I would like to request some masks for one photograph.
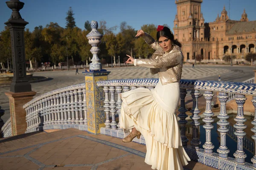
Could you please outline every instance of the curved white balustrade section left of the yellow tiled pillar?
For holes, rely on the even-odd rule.
[[[85,83],[38,96],[23,108],[26,110],[26,133],[70,127],[87,130]]]

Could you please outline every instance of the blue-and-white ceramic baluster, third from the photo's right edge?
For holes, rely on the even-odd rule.
[[[229,95],[224,92],[219,92],[218,93],[218,99],[220,101],[221,107],[220,107],[220,113],[217,116],[218,119],[220,119],[217,124],[220,126],[218,128],[218,131],[220,132],[221,136],[221,145],[217,149],[217,152],[219,153],[219,157],[221,158],[227,158],[228,153],[230,153],[230,150],[227,148],[226,144],[226,139],[227,139],[227,132],[229,131],[229,122],[227,119],[229,116],[227,115],[227,110],[226,110],[226,103],[229,98]],[[233,129],[230,129],[231,136],[233,134]]]

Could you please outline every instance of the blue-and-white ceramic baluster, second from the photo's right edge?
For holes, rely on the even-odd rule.
[[[247,155],[244,153],[243,150],[243,138],[246,135],[244,132],[244,129],[247,127],[247,125],[244,125],[244,122],[246,119],[244,118],[244,103],[245,103],[246,97],[243,94],[236,94],[236,104],[237,104],[237,114],[236,118],[234,119],[236,121],[236,124],[234,127],[236,128],[236,132],[234,133],[237,137],[237,150],[233,154],[236,158],[236,162],[243,164],[244,159],[247,157]]]

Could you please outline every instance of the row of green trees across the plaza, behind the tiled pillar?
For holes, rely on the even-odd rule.
[[[90,22],[84,23],[84,30],[76,27],[73,11],[67,12],[67,26],[62,28],[58,23],[49,23],[45,27],[37,26],[31,32],[24,31],[25,55],[27,61],[37,66],[40,62],[66,62],[67,57],[75,64],[86,62],[93,55],[90,52],[92,46],[88,43],[86,35],[91,31]],[[145,43],[143,38],[136,38],[137,30],[134,30],[126,22],[120,24],[119,33],[114,33],[117,26],[109,28],[105,21],[99,22],[98,31],[103,34],[102,43],[99,45],[99,58],[107,63],[111,62],[111,56],[120,56],[120,62],[124,62],[126,54],[138,58],[148,58],[154,50]],[[141,27],[156,40],[157,26],[147,24]],[[0,62],[7,62],[11,58],[10,31],[6,27],[0,32]],[[70,63],[69,63],[70,64]],[[79,63],[81,64],[81,63]],[[39,65],[38,65],[39,66]]]

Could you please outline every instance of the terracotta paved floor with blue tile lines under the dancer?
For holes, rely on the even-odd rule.
[[[77,129],[0,139],[1,170],[151,170],[145,145]],[[189,161],[184,170],[214,170]]]

